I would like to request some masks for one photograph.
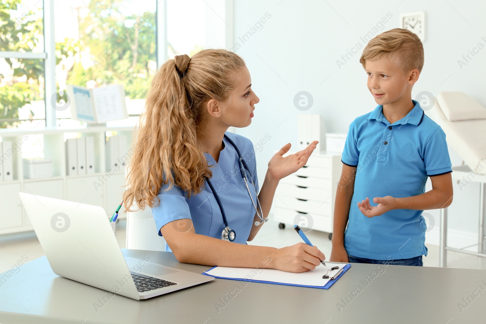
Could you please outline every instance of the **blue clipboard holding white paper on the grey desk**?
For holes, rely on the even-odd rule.
[[[336,265],[342,265],[342,263],[336,264]],[[203,272],[202,274],[207,275],[207,276],[210,276],[210,277],[214,277],[214,278],[219,278],[219,279],[229,279],[229,280],[238,280],[238,281],[246,281],[246,282],[260,282],[260,283],[265,283],[265,284],[275,284],[275,285],[285,285],[285,286],[297,286],[297,287],[307,287],[307,288],[329,289],[339,278],[341,278],[341,276],[344,273],[346,273],[346,271],[350,267],[351,267],[351,265],[348,263],[348,264],[344,265],[342,268],[336,269],[336,272],[339,272],[341,269],[343,271],[334,280],[322,279],[322,272],[321,273],[317,273],[316,272],[315,275],[318,276],[319,278],[321,278],[319,280],[322,280],[323,282],[325,282],[325,284],[323,286],[315,286],[315,285],[306,285],[306,284],[298,284],[298,283],[295,283],[295,278],[297,278],[297,275],[300,274],[300,273],[286,273],[284,271],[275,270],[275,269],[263,269],[263,268],[260,268],[262,271],[270,270],[271,273],[278,272],[278,273],[284,273],[283,275],[287,274],[288,277],[294,277],[293,278],[294,280],[287,280],[287,282],[279,282],[279,281],[271,281],[271,280],[260,280],[260,279],[258,279],[258,273],[255,276],[251,276],[250,275],[251,278],[247,278],[247,277],[244,277],[244,276],[242,277],[241,273],[245,273],[245,272],[251,273],[251,271],[255,271],[255,269],[251,269],[251,268],[212,267],[211,269]],[[213,274],[211,274],[211,270],[214,270],[216,268],[221,268],[223,270],[228,270],[227,271],[228,273],[232,272],[232,270],[234,269],[233,272],[235,274],[237,274],[237,275],[234,276],[234,277],[231,277],[231,276],[221,276],[221,275],[217,275],[217,274],[215,275],[214,272],[213,272]],[[313,272],[314,272],[314,270],[311,270],[309,272],[306,272],[306,275],[309,276]],[[266,276],[272,276],[271,273],[269,275],[266,275]],[[262,277],[262,276],[260,276],[260,277]],[[290,281],[294,281],[294,282],[290,282]],[[315,280],[315,281],[317,281],[317,280]]]

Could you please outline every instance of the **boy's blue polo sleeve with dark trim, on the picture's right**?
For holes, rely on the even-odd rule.
[[[424,165],[429,177],[452,172],[446,134],[440,126],[434,130],[427,144],[425,144]]]

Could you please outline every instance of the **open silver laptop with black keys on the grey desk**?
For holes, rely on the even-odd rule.
[[[52,271],[136,300],[213,280],[143,259],[124,257],[103,207],[19,193]]]

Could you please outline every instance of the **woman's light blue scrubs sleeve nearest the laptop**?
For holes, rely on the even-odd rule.
[[[185,218],[191,219],[191,211],[182,189],[174,185],[169,190],[164,191],[168,187],[169,184],[162,184],[157,195],[160,203],[152,208],[158,236],[162,236],[160,228],[165,224]]]

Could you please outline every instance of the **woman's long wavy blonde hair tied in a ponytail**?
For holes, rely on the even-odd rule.
[[[212,176],[198,142],[205,103],[229,100],[243,67],[243,59],[226,50],[177,55],[160,67],[132,144],[125,211],[133,211],[134,204],[158,205],[162,183],[169,183],[167,190],[179,186],[188,198],[201,192],[204,176]]]

